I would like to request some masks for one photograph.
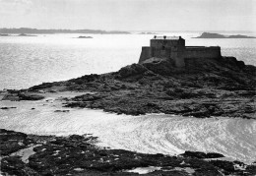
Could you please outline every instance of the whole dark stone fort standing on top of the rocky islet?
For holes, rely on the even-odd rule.
[[[220,46],[185,46],[181,36],[154,36],[150,46],[143,46],[139,64],[151,58],[169,59],[176,67],[184,67],[185,59],[220,58]]]

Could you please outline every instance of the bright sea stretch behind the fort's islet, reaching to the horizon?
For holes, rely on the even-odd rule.
[[[256,65],[256,39],[196,39],[191,37],[200,33],[164,34],[181,35],[186,45],[220,45],[224,56]],[[141,47],[149,45],[153,37],[95,34],[93,39],[75,38],[79,35],[0,36],[0,89],[30,88],[43,82],[117,71],[137,63]]]

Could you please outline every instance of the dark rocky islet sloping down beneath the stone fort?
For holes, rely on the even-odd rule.
[[[255,66],[234,57],[185,62],[185,68],[176,68],[166,60],[133,64],[118,72],[44,83],[18,90],[16,95],[8,93],[17,100],[36,100],[43,98],[41,92],[92,91],[93,94],[66,98],[64,105],[128,115],[164,113],[256,119]]]

